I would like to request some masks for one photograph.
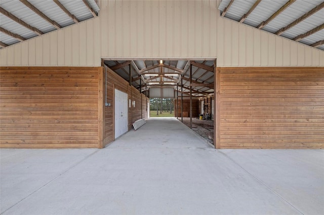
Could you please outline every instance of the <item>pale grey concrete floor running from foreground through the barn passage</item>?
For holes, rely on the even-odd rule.
[[[324,214],[323,150],[215,150],[175,118],[105,149],[1,149],[2,214]]]

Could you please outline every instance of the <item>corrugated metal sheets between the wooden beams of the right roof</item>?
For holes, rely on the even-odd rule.
[[[223,12],[228,6],[231,0],[223,0],[218,9]],[[234,0],[232,5],[227,10],[225,17],[239,21],[239,19],[246,14],[250,8],[254,5],[256,0]],[[262,0],[260,4],[252,11],[252,13],[243,22],[247,25],[257,27],[260,23],[267,20],[272,14],[277,12],[287,1],[284,0]],[[275,33],[277,30],[289,25],[305,13],[311,11],[316,6],[322,4],[323,0],[296,0],[288,8],[277,15],[267,25],[263,27],[263,30]],[[324,22],[324,8],[317,11],[315,14],[309,16],[305,20],[299,22],[292,28],[286,30],[281,36],[293,39],[298,35],[304,34],[317,26],[322,25]],[[319,30],[307,37],[302,38],[299,42],[312,45],[315,42],[324,40],[324,30]],[[324,45],[317,47],[324,50]]]

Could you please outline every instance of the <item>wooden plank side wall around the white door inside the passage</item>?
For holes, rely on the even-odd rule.
[[[106,67],[105,67],[106,68]],[[105,69],[104,69],[105,70]],[[128,130],[132,129],[132,123],[140,118],[147,118],[145,101],[148,102],[148,98],[144,94],[140,94],[134,86],[130,86],[129,82],[123,77],[120,77],[117,73],[110,68],[106,68],[107,71],[107,102],[111,106],[104,108],[104,141],[103,146],[114,141],[114,89],[122,91],[128,94],[128,99],[131,99],[132,105],[128,110]],[[105,71],[104,71],[105,72]],[[105,78],[105,75],[104,75]],[[105,87],[105,86],[104,86]],[[142,99],[141,99],[142,98]],[[133,101],[135,101],[135,107],[133,107]],[[105,103],[105,101],[103,101]],[[142,104],[142,105],[141,105]]]

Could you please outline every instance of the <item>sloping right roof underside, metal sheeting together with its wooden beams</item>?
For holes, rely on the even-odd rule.
[[[324,0],[222,0],[221,16],[324,50]]]

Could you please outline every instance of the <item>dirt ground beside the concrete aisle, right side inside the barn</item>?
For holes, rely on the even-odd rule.
[[[181,117],[178,118],[181,121]],[[184,117],[183,123],[190,127],[190,118]],[[214,145],[214,121],[192,119],[192,130]]]

